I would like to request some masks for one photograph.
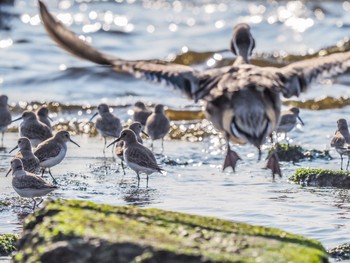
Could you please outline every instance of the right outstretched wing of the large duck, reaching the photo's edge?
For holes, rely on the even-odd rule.
[[[344,73],[350,67],[350,51],[312,58],[289,64],[278,72],[284,83],[284,97],[299,96],[311,82]]]

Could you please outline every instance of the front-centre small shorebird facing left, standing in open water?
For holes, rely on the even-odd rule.
[[[127,166],[136,172],[138,183],[140,182],[140,173],[148,175],[154,172],[160,172],[162,169],[158,166],[153,152],[137,141],[136,134],[130,129],[124,129],[120,133],[120,137],[109,144],[107,147],[116,142],[124,141],[124,161]]]

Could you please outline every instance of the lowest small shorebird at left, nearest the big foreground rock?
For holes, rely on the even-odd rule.
[[[13,189],[21,197],[32,198],[34,202],[33,210],[42,203],[42,196],[57,189],[57,186],[45,182],[40,176],[25,171],[19,158],[14,158],[11,161],[11,169]],[[35,197],[40,197],[39,203],[37,203]]]

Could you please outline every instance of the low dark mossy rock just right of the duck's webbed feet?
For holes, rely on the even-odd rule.
[[[280,161],[284,162],[299,162],[301,160],[314,160],[314,159],[325,159],[331,160],[332,157],[329,154],[328,150],[319,151],[319,150],[305,150],[299,145],[283,144],[276,143],[274,149],[278,155]],[[272,148],[269,149],[269,153]],[[269,154],[268,154],[269,156]]]

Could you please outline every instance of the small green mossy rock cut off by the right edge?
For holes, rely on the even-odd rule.
[[[345,171],[299,168],[289,179],[306,186],[350,188],[350,173]]]

